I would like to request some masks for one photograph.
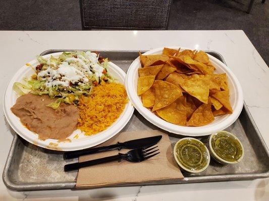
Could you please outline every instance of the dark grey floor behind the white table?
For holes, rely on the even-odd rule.
[[[0,1],[0,30],[82,30],[78,0]],[[269,1],[249,1],[174,0],[168,30],[243,30],[268,65]]]

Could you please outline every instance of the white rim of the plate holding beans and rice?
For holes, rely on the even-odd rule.
[[[47,54],[47,55],[44,55],[43,57],[45,58],[48,58],[50,57],[50,55],[53,55],[53,56],[59,56],[62,52],[56,52],[56,53],[51,53],[51,54]],[[36,59],[33,59],[27,63],[38,63]],[[115,72],[117,72],[117,74],[119,74],[120,78],[123,80],[123,83],[125,85],[125,78],[126,78],[126,73],[116,64],[114,64],[113,62],[109,62],[109,67],[110,68],[113,68],[115,70]],[[27,68],[29,68],[27,66]],[[9,123],[9,125],[11,126],[11,128],[19,135],[21,136],[23,139],[25,139],[27,142],[29,143],[32,143],[34,145],[37,145],[39,147],[43,147],[45,149],[50,149],[50,150],[57,150],[57,151],[75,151],[75,150],[81,150],[81,149],[86,149],[86,148],[90,148],[90,147],[93,147],[93,146],[96,146],[96,145],[99,145],[107,140],[109,140],[110,138],[112,138],[113,136],[115,136],[116,134],[118,134],[126,125],[127,123],[130,121],[132,115],[133,115],[133,112],[134,112],[134,107],[129,99],[129,97],[127,97],[129,99],[129,102],[126,104],[125,106],[125,109],[124,111],[122,112],[121,116],[116,120],[116,122],[114,122],[109,128],[107,129],[113,129],[113,130],[110,130],[109,132],[109,135],[106,135],[105,132],[108,132],[107,129],[102,131],[102,132],[99,132],[97,134],[94,134],[94,135],[91,135],[89,136],[89,138],[84,138],[84,139],[81,139],[81,140],[78,140],[78,141],[72,141],[71,143],[65,143],[65,142],[57,142],[58,143],[58,146],[56,147],[53,147],[53,146],[49,146],[48,144],[49,143],[44,143],[45,141],[41,141],[39,139],[37,140],[31,140],[30,137],[31,136],[27,136],[28,134],[22,132],[20,130],[20,127],[24,127],[23,124],[20,124],[18,126],[14,125],[13,123],[13,120],[12,120],[12,117],[13,118],[17,118],[19,120],[19,118],[17,116],[15,116],[10,108],[7,107],[7,104],[8,104],[8,97],[7,97],[7,93],[8,93],[8,89],[11,89],[10,92],[12,93],[13,89],[12,89],[12,85],[13,83],[17,80],[17,79],[22,79],[22,76],[20,76],[18,78],[18,75],[20,74],[20,72],[23,72],[23,71],[26,71],[27,70],[26,68],[26,64],[23,65],[22,67],[20,67],[17,72],[13,75],[13,77],[10,79],[9,83],[7,84],[6,86],[6,89],[5,89],[5,93],[4,93],[4,97],[3,97],[3,111],[4,111],[4,115],[5,115],[5,118],[7,120],[7,122]],[[18,98],[19,96],[17,96]],[[17,99],[16,98],[16,99]],[[15,104],[15,103],[13,103]],[[12,105],[12,103],[10,104]],[[121,121],[119,121],[121,120]],[[123,121],[125,120],[125,121]],[[20,120],[19,120],[20,121]],[[38,135],[30,130],[28,130],[28,132],[30,132],[32,135]],[[102,137],[99,137],[100,135],[102,135]],[[90,142],[88,143],[87,141],[91,138],[95,138],[94,142]],[[55,139],[48,139],[48,140],[52,140],[52,141],[57,141]],[[86,143],[82,143],[82,142],[85,142]],[[41,143],[40,143],[41,142]],[[71,145],[71,146],[70,146]]]

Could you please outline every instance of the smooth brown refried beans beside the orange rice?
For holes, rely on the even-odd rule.
[[[64,103],[57,110],[47,107],[55,100],[48,95],[28,93],[17,98],[11,111],[26,128],[38,134],[40,140],[65,139],[77,128],[79,110]]]

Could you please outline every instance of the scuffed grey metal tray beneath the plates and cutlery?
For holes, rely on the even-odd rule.
[[[70,50],[47,50],[40,55]],[[125,72],[138,56],[137,51],[98,51],[108,57]],[[225,63],[222,55],[205,51]],[[141,131],[158,128],[144,119],[136,110],[123,131]],[[191,183],[206,181],[250,180],[269,177],[269,151],[246,105],[238,120],[225,129],[241,140],[245,157],[235,165],[220,165],[211,160],[209,167],[199,174],[188,174],[182,180],[148,182],[139,185]],[[172,146],[183,136],[169,134]],[[206,143],[208,137],[199,138]],[[171,155],[172,157],[172,155]],[[63,152],[37,147],[15,135],[3,172],[3,180],[10,189],[45,190],[75,188],[77,172],[64,172]],[[138,185],[138,184],[128,184]],[[125,185],[126,186],[126,185]]]

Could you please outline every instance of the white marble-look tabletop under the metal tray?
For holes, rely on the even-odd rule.
[[[269,145],[269,68],[241,30],[233,31],[0,31],[0,172],[13,139],[2,100],[13,74],[47,49],[147,50],[180,45],[221,53]],[[265,44],[266,45],[266,44]],[[15,192],[0,180],[0,200],[269,200],[269,178],[250,181]]]

